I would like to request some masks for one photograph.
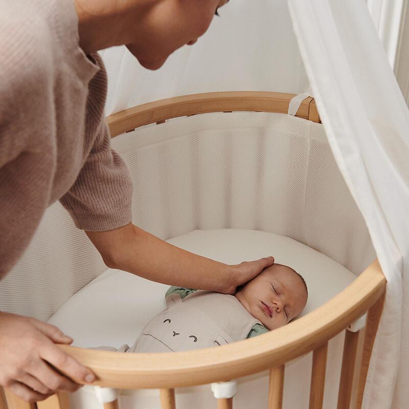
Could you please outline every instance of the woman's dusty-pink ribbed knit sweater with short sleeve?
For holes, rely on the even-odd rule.
[[[79,229],[131,221],[132,184],[109,144],[106,72],[78,46],[73,0],[0,0],[0,278],[56,200]]]

